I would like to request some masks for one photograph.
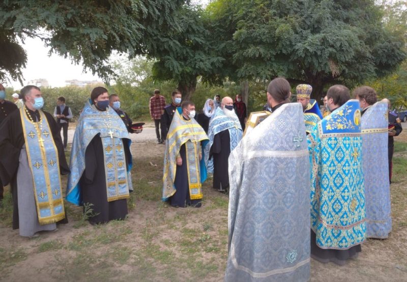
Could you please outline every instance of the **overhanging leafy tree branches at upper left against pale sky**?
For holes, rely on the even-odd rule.
[[[115,50],[130,58],[144,52],[144,41],[161,29],[173,29],[182,0],[4,0],[0,3],[0,80],[22,81],[26,54],[18,39],[41,38],[49,52],[104,79]]]

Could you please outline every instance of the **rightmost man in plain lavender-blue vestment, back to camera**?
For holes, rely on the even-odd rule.
[[[387,103],[377,102],[369,86],[354,90],[362,109],[362,159],[365,179],[366,237],[385,239],[391,232],[391,201],[387,143]]]

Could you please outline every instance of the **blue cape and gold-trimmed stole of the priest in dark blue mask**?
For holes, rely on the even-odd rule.
[[[88,101],[77,122],[69,165],[66,199],[75,205],[82,204],[79,179],[85,170],[86,148],[96,135],[103,144],[107,201],[128,198],[129,190],[133,190],[131,156],[127,166],[124,152],[124,146],[130,151],[131,140],[123,120],[111,107],[99,111]]]

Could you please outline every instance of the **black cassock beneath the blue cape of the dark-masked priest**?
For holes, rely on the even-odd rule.
[[[122,139],[123,140],[123,139]],[[123,144],[126,167],[130,160],[129,147]],[[86,147],[85,170],[79,180],[83,203],[91,203],[91,224],[107,223],[112,220],[124,220],[127,215],[127,199],[108,202],[106,192],[106,174],[104,169],[102,140],[96,135]]]

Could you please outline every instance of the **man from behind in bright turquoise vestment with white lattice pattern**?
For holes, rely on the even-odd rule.
[[[343,85],[327,92],[332,112],[308,135],[311,169],[311,257],[344,264],[366,239],[358,100]]]

